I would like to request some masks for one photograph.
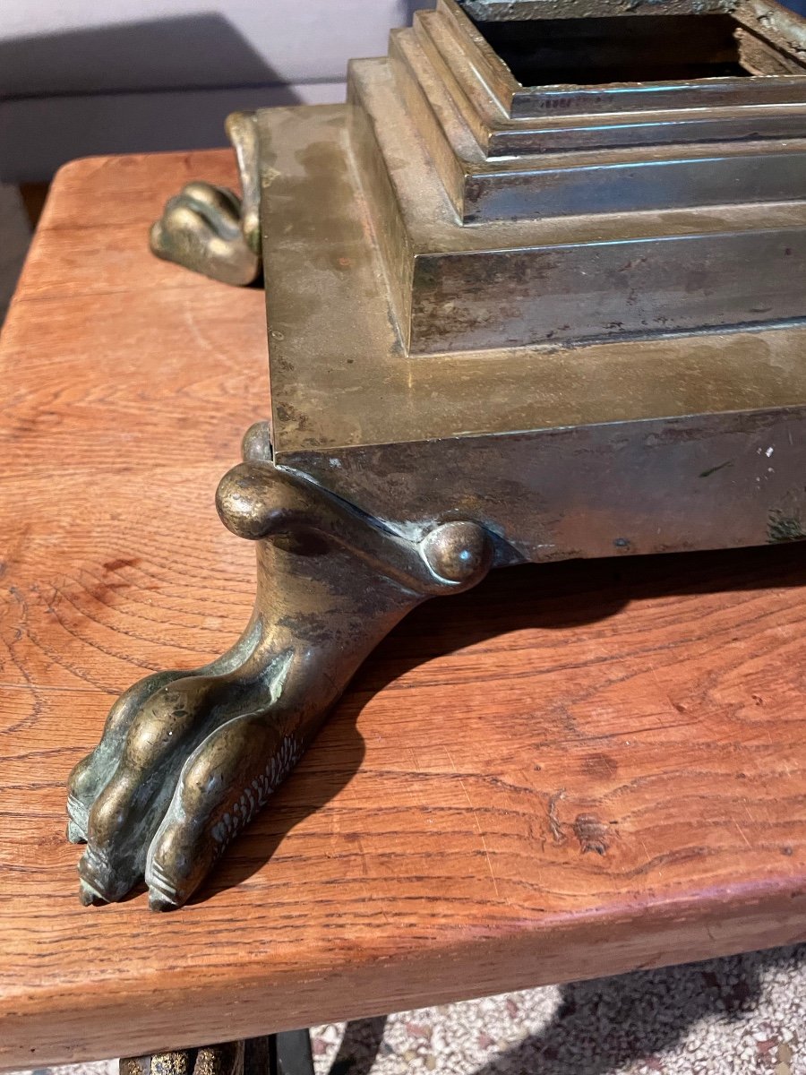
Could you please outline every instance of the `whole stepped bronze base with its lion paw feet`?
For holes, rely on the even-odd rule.
[[[762,0],[438,0],[348,102],[238,114],[160,256],[267,280],[219,488],[241,641],[113,707],[83,898],[184,903],[375,643],[526,560],[806,536],[806,32]]]

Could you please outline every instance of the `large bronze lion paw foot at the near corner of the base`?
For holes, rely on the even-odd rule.
[[[429,597],[466,589],[492,561],[473,521],[408,541],[275,468],[264,427],[217,505],[257,542],[258,592],[244,634],[192,672],[160,672],[112,707],[73,771],[68,835],[86,842],[84,902],[145,879],[150,905],[181,906],[290,772],[352,673]]]

